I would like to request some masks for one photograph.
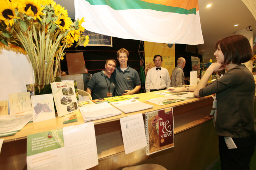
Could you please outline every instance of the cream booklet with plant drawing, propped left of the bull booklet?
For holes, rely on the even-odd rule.
[[[32,113],[30,93],[9,94],[10,114]]]

